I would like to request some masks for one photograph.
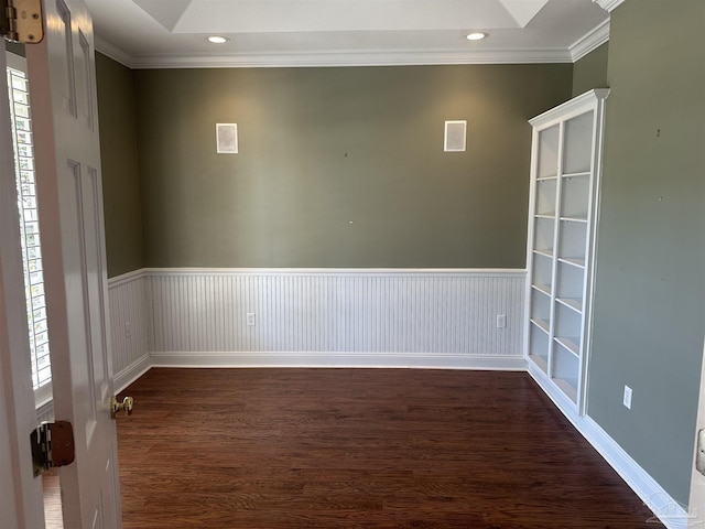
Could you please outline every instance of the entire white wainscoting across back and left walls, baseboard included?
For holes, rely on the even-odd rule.
[[[116,391],[151,366],[525,369],[524,280],[523,270],[137,270],[109,281]]]

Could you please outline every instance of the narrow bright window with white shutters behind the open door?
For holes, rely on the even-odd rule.
[[[7,74],[20,208],[24,293],[30,328],[32,384],[36,400],[41,402],[51,397],[52,368],[48,353],[42,249],[40,246],[30,93],[24,60],[17,55],[8,54]]]

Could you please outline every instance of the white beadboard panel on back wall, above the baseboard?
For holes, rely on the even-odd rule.
[[[154,357],[522,356],[523,271],[150,269],[145,279]]]

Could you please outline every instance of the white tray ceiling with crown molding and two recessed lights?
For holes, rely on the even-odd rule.
[[[574,62],[609,37],[594,0],[86,3],[96,47],[133,68]]]

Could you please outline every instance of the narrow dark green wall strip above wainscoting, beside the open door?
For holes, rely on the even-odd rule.
[[[144,268],[132,71],[96,54],[108,277]]]

